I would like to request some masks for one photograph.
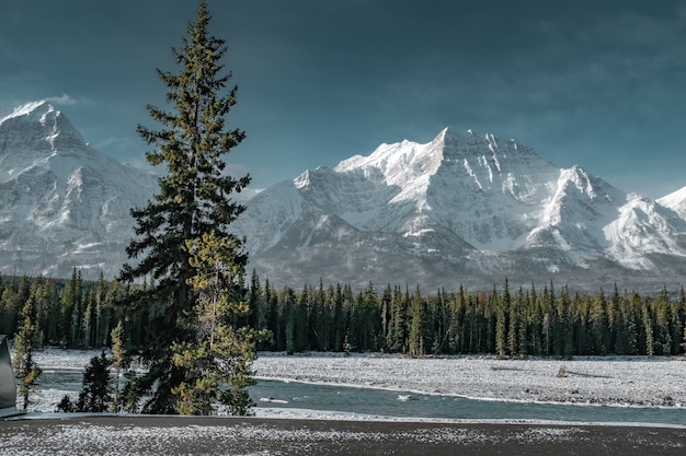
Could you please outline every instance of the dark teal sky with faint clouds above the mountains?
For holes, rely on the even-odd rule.
[[[686,186],[686,3],[209,0],[238,84],[227,156],[253,187],[444,127],[492,132],[626,191]],[[194,0],[0,0],[0,106],[49,98],[142,165]]]

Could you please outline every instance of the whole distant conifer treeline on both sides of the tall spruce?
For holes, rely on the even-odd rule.
[[[666,289],[654,296],[636,291],[571,293],[552,283],[538,290],[510,290],[507,280],[489,292],[371,283],[306,285],[276,290],[256,273],[244,287],[250,315],[239,325],[268,329],[260,350],[376,351],[428,354],[492,353],[527,355],[662,355],[686,346],[686,296]],[[84,282],[78,271],[67,281],[0,278],[0,334],[16,331],[26,300],[35,300],[41,343],[101,348],[123,320],[129,348],[146,347],[156,334],[145,303],[124,315],[117,302],[128,289],[102,278]]]

